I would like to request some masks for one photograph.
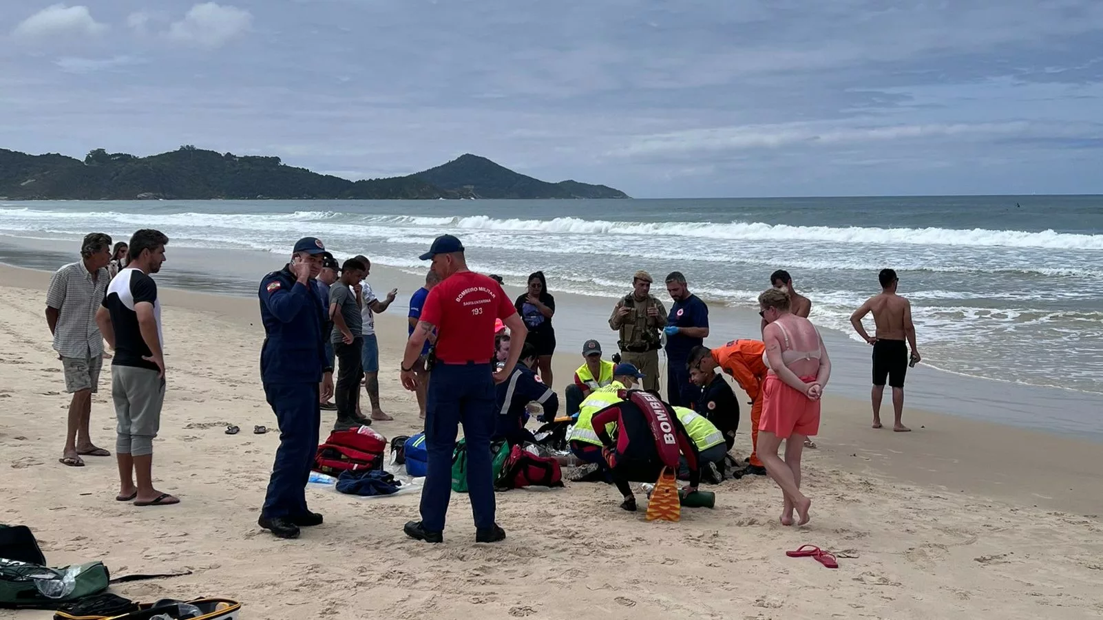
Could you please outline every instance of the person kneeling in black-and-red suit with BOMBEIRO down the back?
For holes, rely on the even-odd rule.
[[[624,496],[620,507],[635,512],[635,495],[628,483],[658,480],[665,468],[677,468],[679,453],[689,470],[689,487],[685,492],[696,491],[700,484],[700,455],[677,415],[652,394],[631,391],[627,396],[627,400],[593,416],[593,429],[603,447],[601,453],[613,484]],[[615,440],[610,436],[610,426],[617,430]]]

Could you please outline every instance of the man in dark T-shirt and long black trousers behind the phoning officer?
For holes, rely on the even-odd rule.
[[[372,420],[356,411],[360,403],[360,377],[363,376],[364,345],[362,314],[353,287],[364,277],[365,266],[350,258],[341,266],[341,279],[330,287],[329,314],[333,318],[330,342],[338,359],[338,382],[333,391],[338,404],[338,419],[333,430],[368,426]]]

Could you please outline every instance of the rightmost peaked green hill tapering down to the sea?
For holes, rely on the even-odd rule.
[[[578,181],[548,183],[499,165],[479,156],[463,154],[452,161],[414,174],[443,190],[470,192],[481,199],[627,199],[628,194],[606,185]]]

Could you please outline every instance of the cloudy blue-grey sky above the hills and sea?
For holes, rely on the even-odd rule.
[[[185,143],[640,197],[1103,193],[1103,1],[0,0],[0,148]]]

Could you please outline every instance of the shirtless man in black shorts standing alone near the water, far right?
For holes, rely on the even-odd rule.
[[[885,394],[885,380],[892,386],[892,409],[896,423],[892,430],[908,432],[900,418],[903,415],[903,377],[910,365],[915,365],[922,357],[915,350],[915,325],[911,322],[911,303],[896,293],[900,278],[892,269],[881,269],[878,278],[881,281],[881,293],[869,298],[861,308],[850,314],[850,324],[858,335],[874,345],[874,389],[870,394],[874,404],[874,428],[881,428],[881,396]],[[870,338],[861,327],[861,319],[872,312],[877,335]],[[904,340],[911,346],[909,360]]]

